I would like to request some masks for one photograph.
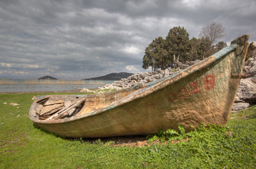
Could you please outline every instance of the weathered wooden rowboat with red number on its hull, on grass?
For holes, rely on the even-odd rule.
[[[248,50],[243,35],[216,54],[140,87],[105,94],[41,96],[30,119],[64,137],[155,134],[161,128],[193,130],[200,123],[226,125]]]

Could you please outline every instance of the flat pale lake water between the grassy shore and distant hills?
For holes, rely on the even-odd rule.
[[[74,87],[95,89],[114,82],[111,80],[101,80],[100,82],[85,82],[85,84],[23,84],[20,81],[17,84],[0,84],[0,92],[66,91],[74,90]]]

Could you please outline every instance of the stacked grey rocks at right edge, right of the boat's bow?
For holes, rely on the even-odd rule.
[[[238,111],[256,104],[256,42],[252,42],[248,49],[248,60],[243,68],[245,78],[240,80],[238,94],[232,110]]]

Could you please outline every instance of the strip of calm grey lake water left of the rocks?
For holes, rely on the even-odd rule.
[[[40,92],[40,91],[66,91],[75,88],[95,89],[112,83],[112,80],[61,80],[44,82],[44,80],[0,80],[0,92]],[[65,84],[66,83],[66,84]],[[72,84],[73,83],[73,84]],[[75,88],[74,88],[75,87]]]

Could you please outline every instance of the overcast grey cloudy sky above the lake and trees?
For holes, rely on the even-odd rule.
[[[0,0],[0,78],[79,80],[138,73],[145,48],[183,26],[221,23],[224,42],[256,41],[255,0]]]

